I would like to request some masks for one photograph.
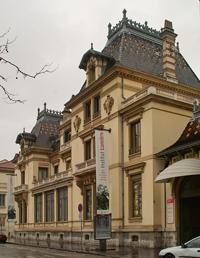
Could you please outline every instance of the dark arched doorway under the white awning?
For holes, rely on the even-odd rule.
[[[180,241],[200,236],[200,175],[185,176],[179,188]]]

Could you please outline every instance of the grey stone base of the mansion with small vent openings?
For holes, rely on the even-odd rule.
[[[132,246],[144,248],[167,248],[177,244],[174,231],[113,231],[111,239],[106,240],[107,246]],[[36,241],[59,241],[63,243],[81,243],[81,231],[28,231],[15,230],[14,238]],[[93,231],[82,232],[83,244],[99,245],[94,239]],[[176,244],[174,244],[176,243]]]

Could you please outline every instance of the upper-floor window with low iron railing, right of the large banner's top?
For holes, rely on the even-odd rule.
[[[140,122],[130,124],[130,149],[129,155],[141,151],[140,145]]]

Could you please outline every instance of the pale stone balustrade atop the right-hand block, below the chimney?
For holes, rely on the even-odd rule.
[[[164,88],[160,88],[156,85],[149,85],[147,88],[139,91],[138,93],[132,95],[128,99],[124,100],[122,102],[122,107],[127,107],[128,105],[131,105],[132,103],[136,102],[137,100],[140,100],[147,95],[155,94],[159,96],[164,96],[169,99],[178,100],[184,103],[192,104],[194,103],[195,98],[193,96],[184,95],[181,93],[177,93],[173,90],[166,90]],[[196,99],[199,100],[199,99]],[[197,101],[198,102],[198,101]]]

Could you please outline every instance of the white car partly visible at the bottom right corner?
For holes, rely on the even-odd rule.
[[[200,257],[200,236],[181,246],[169,247],[159,252],[158,258]]]

